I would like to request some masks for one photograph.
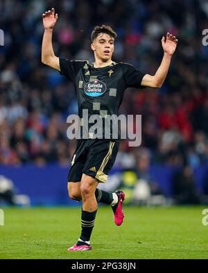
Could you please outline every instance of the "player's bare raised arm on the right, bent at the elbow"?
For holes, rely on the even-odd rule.
[[[176,46],[177,39],[169,32],[166,35],[166,39],[165,37],[162,37],[162,48],[164,49],[164,56],[162,58],[162,62],[154,76],[148,74],[144,75],[141,81],[141,86],[153,88],[160,88],[162,86],[164,80],[166,79],[166,75],[171,64],[171,57],[175,52]]]

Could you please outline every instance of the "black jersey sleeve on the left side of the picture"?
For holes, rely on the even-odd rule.
[[[85,65],[86,61],[70,61],[69,59],[59,58],[59,62],[60,75],[64,75],[73,82],[78,71]]]

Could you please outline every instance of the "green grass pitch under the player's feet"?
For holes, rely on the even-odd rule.
[[[123,225],[99,207],[92,251],[67,252],[80,235],[80,207],[4,209],[0,258],[208,258],[206,207],[124,207]]]

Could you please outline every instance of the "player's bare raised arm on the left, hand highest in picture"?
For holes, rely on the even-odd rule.
[[[59,58],[55,56],[52,45],[53,27],[58,19],[54,8],[43,13],[44,36],[42,39],[42,63],[60,71]]]

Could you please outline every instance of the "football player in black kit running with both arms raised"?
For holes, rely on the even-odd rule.
[[[58,14],[54,8],[42,15],[44,37],[42,40],[42,63],[54,68],[73,82],[78,98],[81,136],[71,160],[68,176],[69,197],[82,200],[81,234],[76,245],[69,251],[91,250],[90,236],[94,227],[98,203],[109,204],[114,213],[114,222],[123,222],[123,191],[112,194],[98,189],[99,182],[107,181],[107,174],[114,164],[119,150],[119,137],[114,138],[110,126],[110,138],[105,138],[105,127],[101,127],[103,138],[94,138],[94,133],[87,131],[83,138],[86,124],[82,124],[83,110],[89,117],[98,115],[102,120],[118,115],[125,88],[135,87],[160,88],[168,73],[171,57],[177,46],[175,36],[167,33],[162,37],[164,56],[155,75],[141,73],[130,64],[112,61],[116,32],[110,26],[96,26],[92,31],[91,49],[94,51],[94,63],[69,60],[56,57],[53,52],[52,34]],[[105,122],[103,122],[105,123]],[[90,127],[90,124],[88,124]],[[88,127],[87,127],[88,128]],[[90,129],[90,128],[89,128]]]

